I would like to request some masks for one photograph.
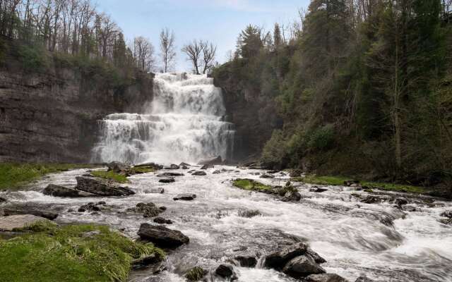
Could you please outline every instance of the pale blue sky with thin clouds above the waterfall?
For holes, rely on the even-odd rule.
[[[216,44],[216,59],[222,63],[246,25],[273,30],[274,23],[290,23],[298,9],[308,5],[309,0],[97,0],[98,11],[112,16],[129,42],[136,36],[147,37],[156,56],[162,28],[174,30],[176,71],[190,71],[180,49],[193,39]]]

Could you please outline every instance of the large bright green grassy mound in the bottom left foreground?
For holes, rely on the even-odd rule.
[[[135,243],[107,226],[37,224],[30,229],[41,232],[0,239],[1,281],[127,281],[133,259],[165,258],[154,245]]]

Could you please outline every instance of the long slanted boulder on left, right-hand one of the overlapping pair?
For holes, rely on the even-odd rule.
[[[135,192],[129,188],[110,185],[106,181],[96,178],[77,176],[76,180],[77,190],[90,192],[100,196],[130,196],[135,194]]]

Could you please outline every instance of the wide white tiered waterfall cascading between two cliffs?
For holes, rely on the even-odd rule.
[[[111,114],[99,121],[100,140],[92,161],[176,164],[218,156],[232,159],[234,125],[224,121],[221,89],[213,78],[157,73],[153,92],[144,114]]]

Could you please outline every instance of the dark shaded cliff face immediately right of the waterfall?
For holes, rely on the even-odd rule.
[[[227,121],[237,130],[234,140],[234,161],[258,159],[263,146],[275,128],[281,125],[275,102],[263,95],[258,87],[234,77],[228,71],[218,71],[215,86],[221,87]]]

